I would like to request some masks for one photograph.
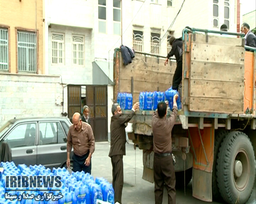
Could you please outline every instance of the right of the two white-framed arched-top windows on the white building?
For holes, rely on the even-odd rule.
[[[84,65],[84,36],[73,35],[73,64]]]

